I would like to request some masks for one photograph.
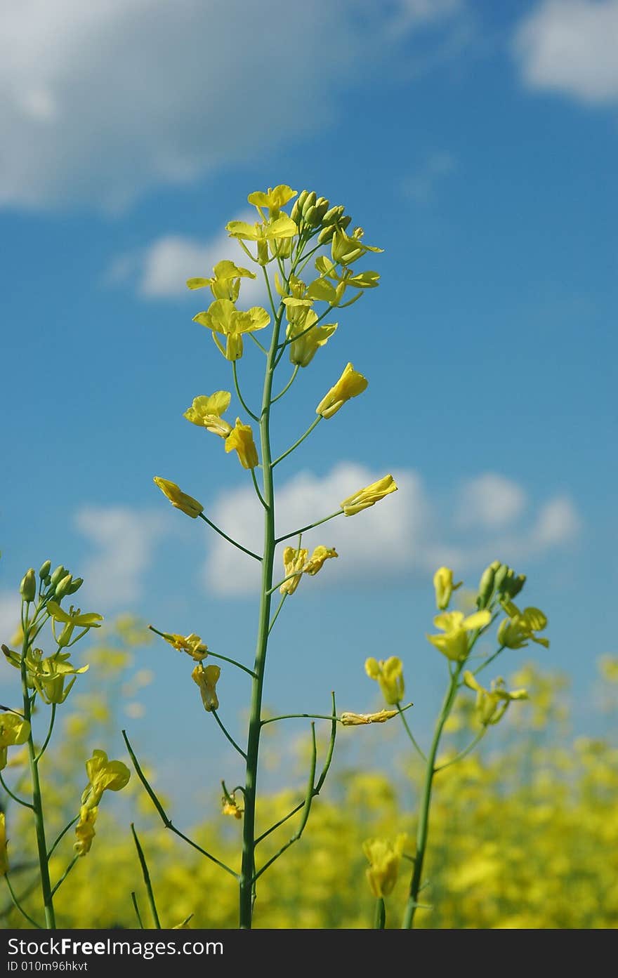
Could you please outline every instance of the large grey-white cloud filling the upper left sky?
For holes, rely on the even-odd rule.
[[[394,61],[411,31],[444,22],[448,33],[461,5],[2,6],[0,204],[118,209],[157,186],[258,159],[265,141],[272,151],[323,130],[350,78],[366,81],[373,68]]]

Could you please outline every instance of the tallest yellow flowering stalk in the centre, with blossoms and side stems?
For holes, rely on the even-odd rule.
[[[294,202],[290,212],[287,213],[284,208],[292,200]],[[199,394],[195,397],[185,413],[185,418],[205,428],[211,434],[219,436],[224,442],[226,453],[236,452],[241,466],[250,473],[256,496],[263,510],[261,553],[253,553],[243,543],[233,540],[222,528],[215,525],[207,514],[207,507],[204,507],[199,500],[183,492],[170,480],[155,477],[155,483],[174,507],[194,519],[203,520],[248,558],[257,560],[261,568],[257,639],[252,668],[228,656],[212,652],[197,635],[183,637],[154,629],[171,645],[187,652],[197,663],[194,666],[193,679],[199,686],[203,706],[206,712],[213,715],[222,733],[244,760],[243,785],[237,786],[232,792],[228,791],[225,783],[223,787],[224,813],[236,819],[243,819],[243,853],[240,872],[223,866],[239,881],[242,928],[251,926],[256,883],[260,875],[302,835],[309,818],[312,800],[320,792],[328,774],[337,724],[352,726],[381,723],[396,716],[396,711],[337,715],[333,696],[330,715],[324,717],[318,714],[311,715],[312,719],[331,721],[331,741],[322,773],[319,776],[317,774],[317,746],[312,724],[312,760],[304,800],[289,813],[286,819],[260,835],[256,834],[257,771],[262,729],[267,723],[289,719],[287,716],[268,719],[262,716],[269,637],[285,601],[296,592],[303,577],[317,574],[322,570],[325,562],[338,556],[333,548],[326,545],[317,547],[310,555],[309,551],[301,546],[302,534],[335,517],[351,516],[374,506],[394,492],[397,486],[391,475],[385,475],[373,485],[353,492],[329,514],[314,518],[314,521],[308,522],[305,526],[285,529],[284,532],[277,528],[276,467],[302,444],[320,422],[331,419],[347,401],[361,394],[368,385],[368,379],[348,363],[340,378],[317,405],[316,417],[305,432],[278,457],[274,457],[271,444],[273,408],[287,394],[299,372],[309,367],[321,347],[331,341],[336,333],[338,324],[325,322],[325,320],[334,310],[349,307],[356,302],[366,289],[374,289],[377,286],[379,278],[377,273],[369,270],[359,271],[356,262],[368,253],[378,252],[381,249],[364,243],[362,228],[355,228],[348,234],[351,218],[345,214],[344,207],[331,206],[329,200],[318,198],[313,192],[303,191],[296,196],[295,191],[282,184],[267,192],[250,194],[248,201],[256,208],[257,221],[254,224],[231,221],[227,225],[229,236],[238,242],[242,250],[243,265],[237,265],[229,260],[220,261],[214,266],[210,278],[194,278],[187,283],[190,289],[209,289],[212,293],[212,301],[206,309],[195,316],[195,322],[211,334],[219,353],[231,367],[233,386],[240,404],[239,417],[236,418],[235,423],[224,418],[230,407],[232,393],[217,390],[212,394]],[[256,275],[263,276],[269,297],[269,309],[260,306],[243,309],[240,304],[243,282],[247,279],[255,279]],[[270,333],[267,333],[269,328]],[[255,347],[252,352],[256,352],[258,357],[265,358],[262,400],[256,411],[252,411],[247,405],[239,378],[239,361],[243,358],[247,342]],[[282,388],[277,391],[275,378],[278,368],[284,366],[286,355],[291,365],[291,374]],[[246,422],[247,418],[257,425],[259,429],[257,438],[254,437],[251,424]],[[353,486],[350,488],[354,489]],[[286,544],[294,538],[295,544],[287,544],[283,552],[283,573],[276,572],[277,546]],[[279,601],[274,608],[273,599],[277,592],[279,592]],[[233,664],[250,676],[249,719],[243,747],[235,742],[218,715],[216,684],[221,667],[204,666],[203,659],[207,655],[223,660],[224,663]],[[167,818],[155,792],[141,771],[128,738],[127,745],[131,750],[138,776],[142,779],[163,822],[177,834],[187,838]],[[259,843],[297,813],[298,823],[293,835],[279,852],[258,866],[256,850]],[[195,846],[191,840],[188,841]],[[201,851],[207,858],[222,865],[210,853]]]

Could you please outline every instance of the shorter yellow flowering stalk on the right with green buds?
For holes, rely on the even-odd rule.
[[[462,582],[454,582],[453,571],[449,567],[439,567],[433,578],[435,599],[438,614],[433,619],[438,634],[427,635],[428,641],[445,657],[448,667],[448,684],[442,701],[442,707],[435,722],[429,749],[425,754],[419,741],[412,731],[411,725],[401,709],[404,696],[403,663],[393,655],[382,661],[375,658],[367,659],[365,671],[370,679],[375,680],[390,706],[400,713],[411,743],[418,753],[424,774],[419,792],[419,811],[417,816],[417,840],[414,856],[407,858],[413,863],[413,870],[408,891],[408,901],[404,911],[404,928],[414,926],[414,919],[419,908],[427,908],[419,903],[421,890],[428,884],[423,882],[423,868],[429,836],[429,816],[434,782],[437,776],[453,764],[466,757],[485,736],[490,727],[500,723],[511,702],[527,699],[525,689],[506,689],[503,679],[494,680],[489,689],[485,689],[477,679],[479,673],[493,663],[507,648],[522,648],[529,642],[547,647],[549,640],[537,633],[547,627],[546,616],[539,608],[527,607],[520,610],[513,603],[525,584],[524,574],[516,575],[512,568],[500,560],[495,560],[483,572],[478,586],[476,610],[465,615],[463,611],[449,611],[453,592],[461,587]],[[483,658],[473,667],[472,651],[479,639],[486,637],[496,619],[505,613],[498,627],[498,647],[489,656]],[[454,756],[439,760],[438,751],[447,722],[453,712],[456,700],[461,693],[471,689],[476,693],[474,716],[476,732],[470,742]],[[367,870],[368,880],[373,894],[377,899],[375,926],[385,926],[384,897],[395,885],[402,858],[405,857],[402,836],[393,846],[389,840],[369,839],[365,844],[365,853],[370,862]]]

